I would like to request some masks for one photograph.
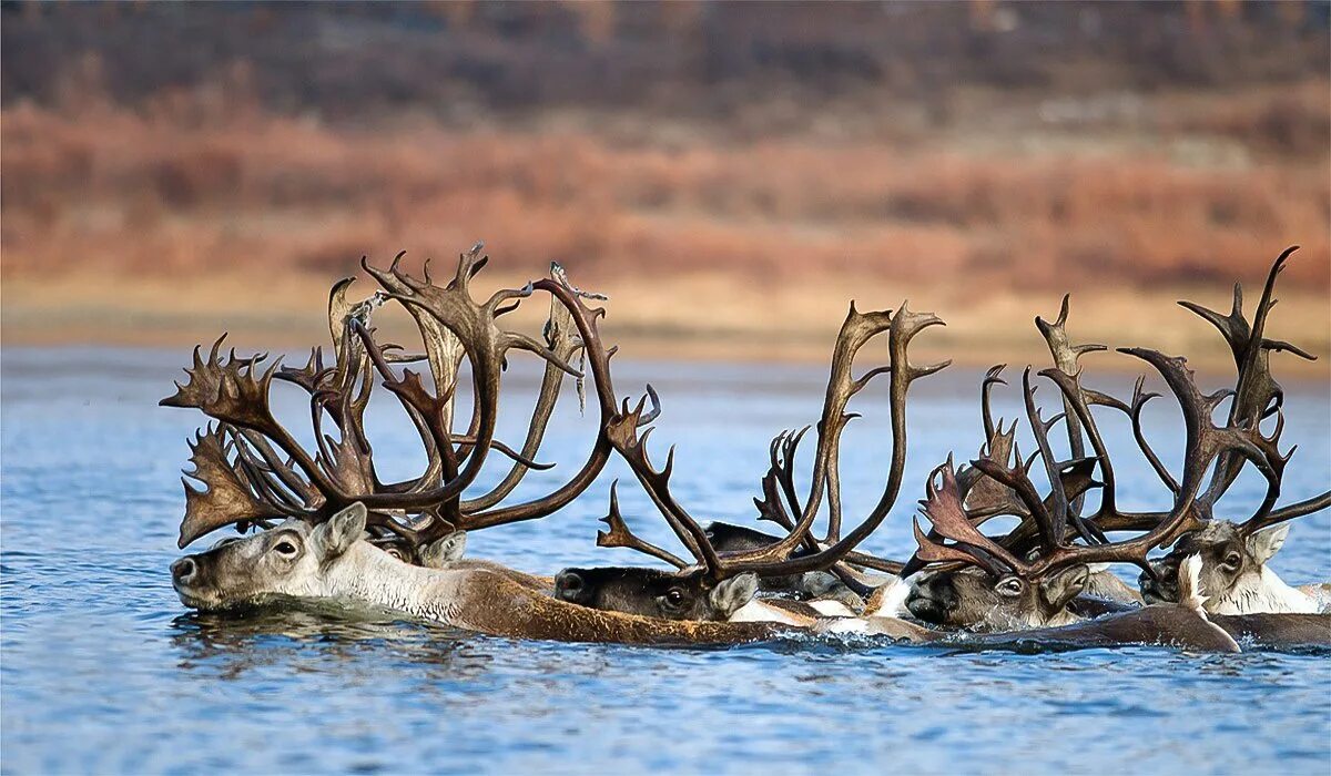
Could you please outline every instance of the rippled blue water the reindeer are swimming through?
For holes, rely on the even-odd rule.
[[[1331,662],[1130,648],[960,654],[793,640],[729,650],[516,643],[333,611],[188,612],[170,590],[177,473],[200,417],[156,407],[184,353],[8,349],[0,477],[0,769],[24,772],[1307,772],[1331,769]],[[622,394],[664,398],[659,457],[696,515],[751,520],[768,438],[811,422],[821,369],[616,363]],[[516,393],[531,390],[518,373]],[[976,374],[918,383],[909,477],[869,546],[901,556],[924,474],[980,443]],[[1126,391],[1123,378],[1089,379]],[[1046,389],[1051,395],[1051,389]],[[849,514],[878,495],[881,391],[860,402],[843,481]],[[299,418],[295,397],[287,409]],[[1006,413],[1013,415],[1010,398]],[[534,494],[590,446],[556,417]],[[1154,421],[1175,421],[1155,402]],[[1326,487],[1331,401],[1302,386],[1287,498]],[[389,474],[419,463],[405,423],[375,434]],[[1106,421],[1107,422],[1107,421]],[[510,417],[504,438],[519,435]],[[1177,425],[1173,426],[1177,429]],[[1162,503],[1110,425],[1129,507]],[[1179,433],[1162,433],[1175,461]],[[478,532],[470,552],[530,571],[638,562],[598,550],[610,477],[563,514]],[[1251,506],[1243,479],[1230,500]],[[635,530],[666,542],[622,488]],[[1304,519],[1274,566],[1331,576],[1331,516]]]

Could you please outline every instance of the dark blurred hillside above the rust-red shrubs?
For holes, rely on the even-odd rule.
[[[92,56],[116,101],[234,68],[266,109],[655,106],[712,116],[752,91],[1059,92],[1324,76],[1328,3],[104,3],[3,4],[3,98],[57,104]]]

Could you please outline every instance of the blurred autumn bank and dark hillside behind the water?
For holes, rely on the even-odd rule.
[[[1271,335],[1328,374],[1324,0],[0,13],[4,343],[322,342],[361,256],[484,238],[642,357],[821,361],[909,298],[921,358],[1040,359],[1070,291],[1074,338],[1223,370],[1174,301],[1251,311],[1300,244]]]

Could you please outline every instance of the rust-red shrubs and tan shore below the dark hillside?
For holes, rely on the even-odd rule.
[[[237,321],[294,338],[317,330],[313,289],[362,254],[447,258],[482,237],[514,277],[558,260],[616,290],[620,333],[676,354],[821,354],[848,297],[909,295],[981,361],[1063,290],[1109,339],[1205,339],[1169,301],[1221,305],[1298,242],[1283,326],[1331,349],[1324,71],[346,121],[278,109],[244,59],[130,98],[108,56],[71,57],[27,97],[7,84],[7,342],[177,342]]]

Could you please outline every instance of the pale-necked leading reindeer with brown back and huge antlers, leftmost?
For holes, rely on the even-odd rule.
[[[399,256],[401,258],[401,256]],[[273,596],[335,598],[386,606],[419,616],[488,634],[536,639],[614,642],[749,640],[772,634],[763,624],[681,623],[600,612],[556,600],[535,588],[542,580],[503,567],[446,562],[441,544],[457,531],[478,530],[555,512],[582,494],[614,451],[610,429],[650,421],[635,413],[620,417],[610,378],[610,357],[596,329],[603,309],[583,303],[560,270],[523,289],[504,289],[483,302],[471,295],[471,281],[484,266],[478,245],[463,254],[450,281],[435,285],[415,278],[398,261],[381,270],[362,262],[382,290],[359,303],[346,298],[350,280],[337,284],[329,305],[334,362],[325,365],[315,350],[301,369],[272,365],[264,357],[222,355],[221,341],[204,358],[197,350],[166,406],[204,411],[217,426],[192,445],[190,477],[185,483],[186,512],[180,544],[234,524],[262,528],[218,543],[172,566],[182,602],[198,608],[228,608]],[[551,315],[542,343],[510,331],[498,319],[534,293],[551,297]],[[375,339],[369,317],[375,306],[394,301],[419,327],[425,351],[405,354]],[[527,438],[515,450],[495,439],[498,399],[506,358],[532,353],[546,362],[544,379],[528,423]],[[544,496],[502,504],[531,469],[566,374],[582,353],[595,389],[599,430],[583,466]],[[470,363],[473,415],[462,434],[453,425],[453,395],[461,362]],[[426,362],[433,391],[399,363]],[[306,450],[269,406],[274,379],[309,394],[315,449]],[[426,450],[427,463],[415,478],[385,483],[374,467],[363,418],[377,381],[398,399]],[[325,434],[331,422],[335,437]],[[510,461],[507,475],[475,498],[465,498],[482,466],[498,453]],[[414,563],[405,563],[402,558]]]

